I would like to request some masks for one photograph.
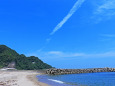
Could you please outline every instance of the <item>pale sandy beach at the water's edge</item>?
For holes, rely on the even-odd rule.
[[[39,82],[36,71],[0,71],[0,86],[49,86]]]

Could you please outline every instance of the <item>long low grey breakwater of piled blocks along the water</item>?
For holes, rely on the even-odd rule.
[[[115,68],[89,68],[89,69],[47,69],[46,74],[80,74],[80,73],[97,73],[97,72],[115,72]]]

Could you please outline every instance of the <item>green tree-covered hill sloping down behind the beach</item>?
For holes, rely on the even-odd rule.
[[[16,68],[18,70],[52,68],[52,66],[44,63],[38,57],[26,57],[23,54],[19,55],[15,50],[12,50],[6,45],[0,45],[0,68],[3,67]]]

